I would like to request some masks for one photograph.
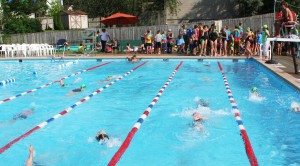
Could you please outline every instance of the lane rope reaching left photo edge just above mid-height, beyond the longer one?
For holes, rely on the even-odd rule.
[[[69,78],[69,77],[73,77],[73,76],[82,74],[82,73],[84,73],[84,72],[90,71],[90,70],[94,70],[94,69],[96,69],[96,68],[99,68],[99,67],[101,67],[101,66],[105,66],[105,65],[110,64],[110,63],[111,63],[111,62],[106,62],[106,63],[100,64],[100,65],[97,65],[97,66],[94,66],[94,67],[90,67],[90,68],[85,69],[85,70],[81,70],[81,71],[79,71],[79,72],[76,72],[76,73],[73,73],[73,74],[71,74],[71,75],[65,76],[65,77],[61,78],[60,80],[67,79],[67,78]],[[49,86],[49,85],[52,85],[52,84],[53,84],[53,81],[52,81],[52,82],[49,82],[49,83],[47,83],[47,84],[44,84],[44,85],[42,85],[42,86],[40,86],[40,87],[37,87],[37,88],[35,88],[35,89],[31,89],[31,90],[28,90],[28,91],[26,91],[26,92],[20,93],[20,94],[18,94],[18,95],[15,95],[15,96],[6,98],[6,99],[4,99],[4,100],[1,100],[1,101],[0,101],[0,105],[3,104],[3,103],[5,103],[5,102],[8,102],[8,101],[10,101],[10,100],[16,99],[17,97],[24,96],[24,95],[29,94],[29,93],[31,93],[31,92],[35,92],[35,91],[37,91],[37,90],[39,90],[39,89],[45,88],[45,87],[47,87],[47,86]]]

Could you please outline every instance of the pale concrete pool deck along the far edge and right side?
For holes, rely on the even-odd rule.
[[[133,54],[96,54],[91,56],[82,56],[82,55],[65,55],[64,58],[66,59],[94,59],[94,58],[109,58],[109,59],[120,59],[132,56]],[[62,55],[57,55],[56,58],[60,58]],[[137,54],[138,58],[144,59],[155,59],[155,58],[173,58],[173,59],[245,59],[245,56],[228,56],[228,57],[210,57],[210,56],[185,56],[185,55],[178,55],[178,54]],[[50,56],[51,57],[51,56]],[[15,57],[15,58],[0,58],[0,60],[18,60],[18,59],[50,59],[48,57]],[[259,62],[261,65],[265,66],[269,70],[276,73],[278,76],[282,77],[284,80],[292,84],[300,91],[300,74],[294,74],[294,66],[292,57],[290,56],[274,56],[274,60],[278,62],[278,64],[266,64],[263,60],[259,57],[254,57],[254,59]],[[297,59],[299,61],[299,59]],[[298,62],[299,63],[299,62]],[[299,69],[300,70],[300,69]]]

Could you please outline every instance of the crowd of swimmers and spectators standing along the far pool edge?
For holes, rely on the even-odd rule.
[[[260,53],[260,49],[263,48],[269,36],[267,25],[264,25],[262,30],[253,31],[249,27],[244,30],[243,24],[239,23],[234,29],[224,26],[218,31],[215,24],[208,26],[199,23],[193,28],[187,28],[183,24],[177,37],[173,36],[171,29],[167,32],[158,30],[155,35],[148,30],[142,37],[140,50],[146,54],[176,51],[178,54],[199,56],[246,55],[252,57]]]

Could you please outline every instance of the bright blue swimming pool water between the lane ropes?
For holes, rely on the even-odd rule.
[[[0,165],[24,164],[29,145],[35,147],[37,165],[107,165],[181,61],[182,66],[118,165],[249,165],[218,61],[238,103],[258,163],[300,164],[300,119],[299,114],[290,111],[292,102],[300,102],[300,92],[256,61],[145,59],[131,64],[123,59],[92,59],[63,67],[68,61],[0,61],[0,80],[16,79],[0,86],[0,100],[111,62],[64,80],[73,85],[61,88],[56,83],[2,103],[1,147],[110,83],[97,84],[100,80],[123,76],[141,65],[68,114],[13,144],[0,155]],[[68,95],[83,83],[87,85],[85,91]],[[249,94],[253,86],[258,87],[261,97]],[[199,98],[207,100],[209,107],[199,106]],[[27,119],[11,122],[14,115],[31,107],[34,113]],[[194,112],[208,117],[204,130],[193,127]],[[105,145],[94,138],[101,129],[111,137]]]

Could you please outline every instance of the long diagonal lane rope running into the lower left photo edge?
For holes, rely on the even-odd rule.
[[[5,152],[7,149],[9,149],[13,144],[17,143],[18,141],[20,141],[21,139],[27,137],[28,135],[30,135],[31,133],[33,133],[34,131],[41,129],[43,127],[45,127],[47,124],[49,124],[50,122],[62,117],[63,115],[69,113],[70,111],[72,111],[75,107],[79,106],[80,104],[84,103],[85,101],[88,101],[89,99],[91,99],[93,96],[96,96],[97,94],[99,94],[100,92],[102,92],[103,90],[107,89],[108,87],[110,87],[111,85],[113,85],[114,83],[116,83],[117,81],[122,80],[124,77],[128,76],[129,74],[131,74],[133,71],[135,71],[136,69],[138,69],[139,67],[143,66],[144,64],[146,64],[147,62],[144,62],[138,66],[136,66],[135,68],[131,69],[130,71],[128,71],[127,73],[125,73],[123,76],[116,78],[114,81],[111,81],[110,83],[108,83],[107,85],[103,86],[102,88],[94,91],[93,93],[91,93],[90,95],[84,97],[83,99],[77,101],[76,103],[74,103],[73,105],[71,105],[70,107],[66,108],[65,110],[63,110],[62,112],[54,115],[52,118],[46,120],[45,122],[40,123],[39,125],[35,126],[34,128],[32,128],[31,130],[27,131],[26,133],[22,134],[21,136],[17,137],[16,139],[12,140],[11,142],[9,142],[8,144],[6,144],[5,146],[3,146],[0,149],[0,154],[2,154],[3,152]]]

